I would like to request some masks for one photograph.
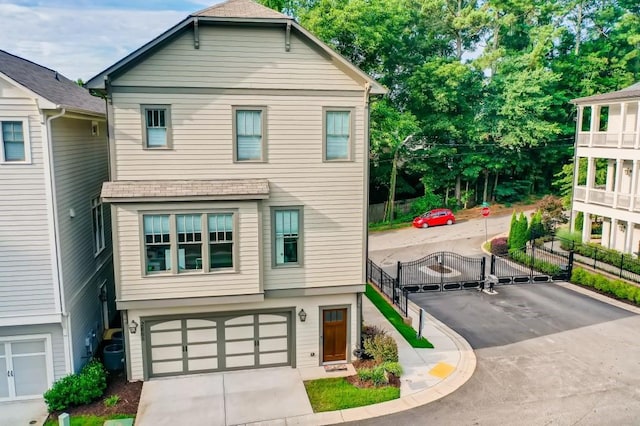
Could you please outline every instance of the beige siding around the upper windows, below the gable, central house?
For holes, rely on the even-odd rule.
[[[173,150],[142,149],[138,102],[171,104]],[[362,284],[367,145],[361,103],[360,96],[115,94],[117,180],[266,178],[264,288]],[[267,163],[233,162],[231,106],[243,104],[268,105]],[[323,161],[326,106],[354,108],[353,162]],[[303,206],[303,267],[271,268],[271,206]]]

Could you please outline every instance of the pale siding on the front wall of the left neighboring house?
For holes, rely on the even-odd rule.
[[[0,164],[0,317],[53,313],[39,111],[31,99],[0,98],[0,117],[28,118],[31,142],[31,164]]]

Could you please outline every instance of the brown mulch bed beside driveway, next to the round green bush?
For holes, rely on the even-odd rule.
[[[107,389],[104,396],[91,404],[70,407],[64,411],[49,414],[49,420],[55,420],[58,415],[68,413],[70,416],[109,416],[112,414],[130,414],[132,417],[138,412],[142,382],[128,382],[126,374],[113,373],[107,378]],[[111,395],[118,395],[120,400],[113,407],[107,407],[104,400]]]

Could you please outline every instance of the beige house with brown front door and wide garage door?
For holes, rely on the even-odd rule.
[[[385,89],[249,0],[188,16],[87,86],[108,97],[129,378],[348,362],[368,104]]]

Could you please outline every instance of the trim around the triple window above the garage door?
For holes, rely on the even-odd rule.
[[[238,231],[238,210],[237,209],[220,209],[220,210],[176,210],[176,211],[139,211],[138,224],[140,229],[140,267],[142,277],[175,277],[175,276],[190,276],[190,275],[215,275],[215,274],[229,274],[238,273],[240,271],[240,256],[239,256],[239,231]],[[176,227],[176,216],[182,214],[199,214],[202,220],[202,269],[198,270],[184,270],[179,271],[180,268],[172,267],[168,271],[147,271],[147,245],[144,235],[144,216],[153,215],[168,215],[169,216],[169,246],[171,250],[171,265],[178,265],[178,230]],[[230,214],[233,223],[233,266],[231,268],[219,268],[211,269],[209,259],[209,219],[210,214]]]

